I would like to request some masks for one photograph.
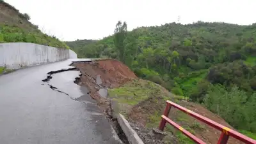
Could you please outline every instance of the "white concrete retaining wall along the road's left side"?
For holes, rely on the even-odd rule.
[[[0,43],[0,66],[18,69],[49,62],[75,59],[76,53],[65,48],[54,48],[34,43]]]

